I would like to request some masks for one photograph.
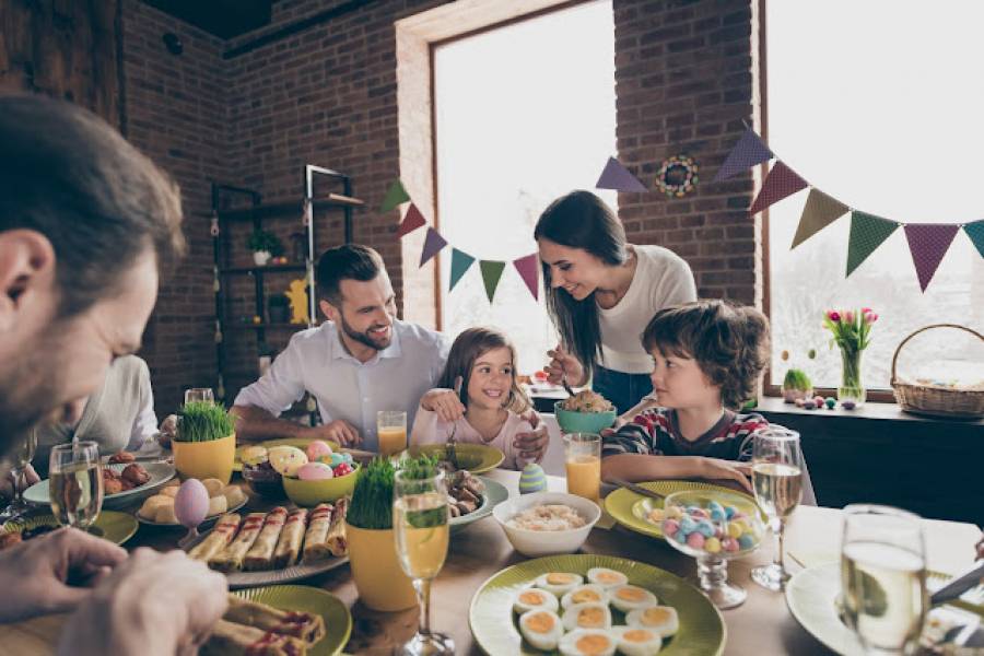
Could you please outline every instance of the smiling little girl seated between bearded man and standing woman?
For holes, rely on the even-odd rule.
[[[456,383],[460,394],[455,394]],[[502,467],[523,469],[528,460],[513,446],[518,433],[532,433],[529,399],[516,383],[516,351],[504,335],[469,328],[452,344],[437,387],[420,399],[411,444],[485,444],[505,454]]]

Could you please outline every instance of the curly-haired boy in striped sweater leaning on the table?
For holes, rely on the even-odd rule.
[[[769,422],[737,409],[765,367],[769,320],[752,307],[699,301],[656,313],[642,342],[655,361],[656,407],[605,436],[602,477],[731,479],[751,491],[745,462]]]

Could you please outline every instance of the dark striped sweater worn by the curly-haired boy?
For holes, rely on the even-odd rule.
[[[704,456],[747,461],[752,457],[752,435],[768,426],[769,422],[761,414],[725,410],[710,431],[690,441],[680,434],[676,410],[654,408],[636,414],[631,423],[605,436],[601,456]]]

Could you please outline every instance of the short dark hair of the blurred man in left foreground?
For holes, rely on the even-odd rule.
[[[177,187],[90,112],[36,95],[0,96],[0,232],[51,243],[59,314],[112,296],[138,257],[185,249]]]

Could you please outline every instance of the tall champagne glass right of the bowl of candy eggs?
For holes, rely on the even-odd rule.
[[[773,426],[755,433],[752,446],[752,485],[755,501],[775,534],[773,562],[752,569],[752,581],[778,591],[789,581],[783,554],[786,520],[803,499],[803,452],[799,433]]]

